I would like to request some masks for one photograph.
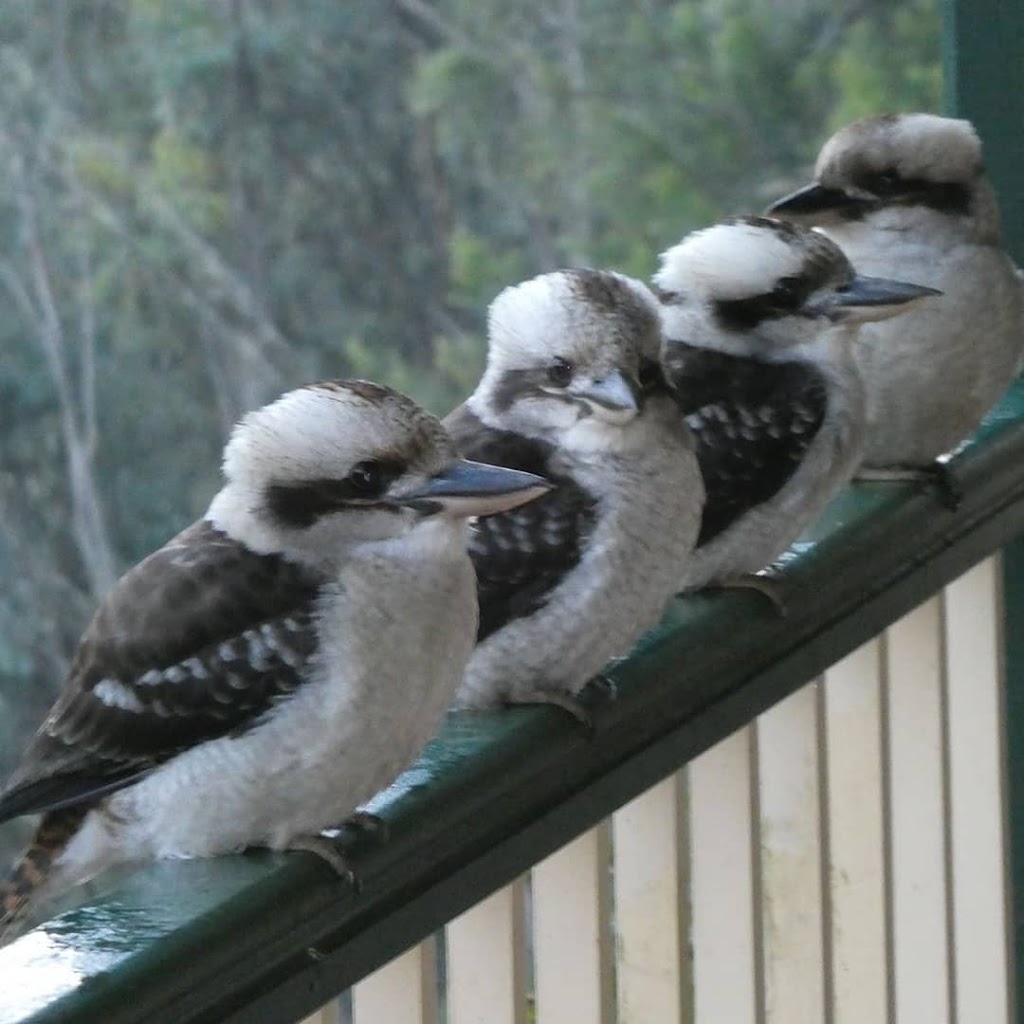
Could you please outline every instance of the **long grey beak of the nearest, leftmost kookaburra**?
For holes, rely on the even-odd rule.
[[[421,487],[394,496],[392,500],[424,515],[443,512],[454,518],[464,518],[507,512],[540,498],[553,486],[534,473],[460,459],[430,477]]]

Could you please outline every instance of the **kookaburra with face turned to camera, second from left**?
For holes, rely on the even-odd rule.
[[[554,489],[470,536],[477,644],[455,707],[563,708],[657,624],[696,539],[693,439],[657,392],[657,302],[610,270],[544,273],[488,310],[486,367],[444,419],[461,454]]]

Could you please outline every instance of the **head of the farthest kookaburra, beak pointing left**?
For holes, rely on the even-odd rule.
[[[904,230],[940,215],[998,230],[981,141],[969,121],[934,114],[855,121],[821,147],[814,178],[768,213],[808,226],[864,220]]]

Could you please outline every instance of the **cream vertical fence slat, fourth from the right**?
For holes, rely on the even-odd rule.
[[[824,1019],[816,686],[763,714],[758,730],[761,918],[767,1024]]]

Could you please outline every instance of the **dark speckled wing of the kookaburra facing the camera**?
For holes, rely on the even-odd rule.
[[[514,618],[542,608],[583,557],[597,519],[597,501],[552,464],[552,449],[482,423],[465,406],[444,426],[467,459],[521,469],[556,484],[511,512],[478,519],[469,556],[476,569],[477,642]]]

